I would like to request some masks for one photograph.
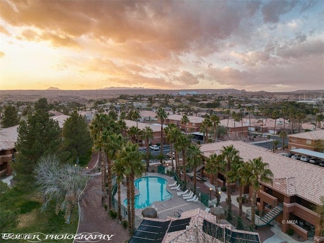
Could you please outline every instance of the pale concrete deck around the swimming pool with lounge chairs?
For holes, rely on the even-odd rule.
[[[167,219],[168,217],[177,217],[177,214],[175,212],[178,212],[181,214],[181,211],[188,211],[188,210],[193,210],[193,209],[202,209],[205,210],[206,206],[197,201],[197,202],[188,202],[187,200],[184,200],[182,198],[182,196],[178,196],[177,192],[180,192],[179,190],[171,190],[171,188],[168,186],[169,184],[173,184],[175,182],[175,180],[167,175],[161,175],[158,173],[148,173],[147,174],[148,177],[161,177],[164,178],[168,181],[167,184],[167,190],[172,193],[172,198],[165,200],[165,201],[155,201],[153,202],[153,204],[157,207],[158,211],[157,211],[157,218],[158,219]],[[144,176],[143,176],[144,177]],[[126,199],[126,187],[125,186],[121,186],[120,188],[120,197],[121,197],[121,201],[123,202]],[[145,207],[143,208],[145,209]],[[142,210],[143,209],[136,209],[135,210],[135,214],[140,217],[141,219],[143,219],[142,216]]]

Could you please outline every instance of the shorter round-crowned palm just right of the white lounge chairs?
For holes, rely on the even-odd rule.
[[[214,185],[215,185],[215,192],[216,192],[216,199],[217,199],[217,206],[218,206],[219,203],[220,203],[220,196],[219,196],[219,193],[218,193],[217,178],[218,178],[218,173],[220,171],[225,170],[224,160],[219,159],[219,157],[216,154],[212,154],[207,159],[205,170],[206,170],[207,173],[209,173],[209,175],[213,175]]]

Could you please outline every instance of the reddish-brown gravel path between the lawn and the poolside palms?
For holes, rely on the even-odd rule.
[[[93,154],[88,165],[93,172],[96,171],[98,155]],[[80,201],[80,220],[77,233],[98,232],[104,235],[112,235],[109,241],[99,240],[96,242],[123,243],[130,238],[128,229],[124,229],[117,219],[111,219],[108,212],[101,205],[101,175],[94,177],[88,184],[81,196]]]

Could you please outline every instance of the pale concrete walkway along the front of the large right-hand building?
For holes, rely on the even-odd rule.
[[[209,182],[205,182],[205,185],[212,188],[213,191],[215,191],[215,186],[213,186],[212,184],[210,184]],[[221,202],[226,201],[227,198],[227,194],[224,192],[221,192]],[[238,202],[236,200],[236,198],[238,197],[238,195],[233,195],[231,196],[232,198],[232,204],[238,207]],[[246,207],[244,205],[242,205],[242,211],[247,213],[247,210],[251,209],[251,207]],[[281,242],[285,242],[287,241],[288,243],[312,243],[313,240],[312,239],[308,239],[305,241],[298,241],[293,239],[292,237],[290,237],[288,234],[284,233],[281,231],[280,225],[274,225],[271,227],[271,231],[274,233],[273,236],[271,236],[270,238],[266,239],[265,241],[263,241],[263,243],[281,243]]]

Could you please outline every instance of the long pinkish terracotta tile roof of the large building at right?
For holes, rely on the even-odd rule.
[[[324,168],[300,160],[278,155],[241,141],[224,141],[201,145],[200,151],[206,157],[220,153],[223,147],[233,145],[244,161],[262,157],[273,173],[273,185],[268,187],[287,196],[297,195],[317,205],[321,204],[320,195],[324,195]],[[307,182],[307,183],[305,183]]]

